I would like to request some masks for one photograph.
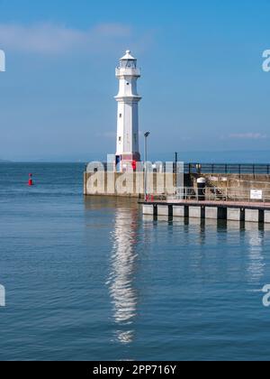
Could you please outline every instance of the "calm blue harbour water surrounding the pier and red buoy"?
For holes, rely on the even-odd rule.
[[[83,171],[0,164],[0,359],[268,360],[270,226],[156,222]]]

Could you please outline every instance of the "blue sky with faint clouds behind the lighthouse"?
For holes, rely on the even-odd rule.
[[[114,69],[127,49],[152,156],[267,151],[269,14],[266,0],[0,0],[0,159],[115,153]]]

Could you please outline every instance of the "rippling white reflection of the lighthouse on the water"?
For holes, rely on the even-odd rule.
[[[134,273],[138,259],[137,230],[137,209],[118,208],[112,232],[112,263],[108,285],[116,338],[122,344],[132,342],[132,326],[137,316],[138,292],[134,288]]]

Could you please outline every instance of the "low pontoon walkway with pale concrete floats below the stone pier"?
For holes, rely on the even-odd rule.
[[[202,202],[183,200],[169,202],[145,202],[143,214],[160,217],[183,217],[209,220],[228,220],[240,223],[270,224],[270,203]]]

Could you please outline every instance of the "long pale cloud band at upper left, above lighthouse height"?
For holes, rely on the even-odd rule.
[[[99,52],[130,39],[130,26],[102,23],[83,31],[53,23],[30,26],[0,23],[0,46],[5,50],[55,54],[77,49]]]

